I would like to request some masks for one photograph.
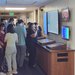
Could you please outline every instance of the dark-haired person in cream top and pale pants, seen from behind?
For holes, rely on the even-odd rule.
[[[17,74],[16,43],[18,43],[18,36],[14,32],[12,24],[9,24],[7,27],[7,34],[4,41],[7,43],[5,57],[8,65],[8,75]]]

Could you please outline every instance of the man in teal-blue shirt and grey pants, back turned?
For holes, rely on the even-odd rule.
[[[18,20],[17,26],[15,27],[15,32],[18,34],[17,64],[19,67],[22,67],[26,54],[26,28],[21,19]]]

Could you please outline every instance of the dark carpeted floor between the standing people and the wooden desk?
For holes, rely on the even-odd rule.
[[[36,66],[35,68],[30,68],[28,66],[28,62],[25,61],[23,67],[18,69],[17,75],[45,75],[45,74],[39,68],[39,66]]]

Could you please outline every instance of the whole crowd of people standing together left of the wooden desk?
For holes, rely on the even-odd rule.
[[[7,23],[0,23],[0,72],[2,63],[6,59],[8,75],[17,74],[17,67],[23,66],[26,50],[29,53],[29,66],[36,65],[37,37],[42,36],[42,29],[38,24],[29,22],[28,27],[24,25],[22,19],[18,19],[14,26],[14,19],[10,18]]]

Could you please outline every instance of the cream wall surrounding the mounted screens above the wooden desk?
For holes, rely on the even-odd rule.
[[[65,41],[61,38],[59,35],[53,35],[49,34],[50,39],[55,39],[58,42],[65,42],[70,45],[71,49],[75,49],[75,0],[57,0],[55,2],[50,3],[49,5],[44,7],[44,11],[50,11],[50,10],[59,10],[69,7],[71,11],[71,20],[70,22],[64,22],[62,24],[68,25],[71,28],[71,39],[69,41]]]

